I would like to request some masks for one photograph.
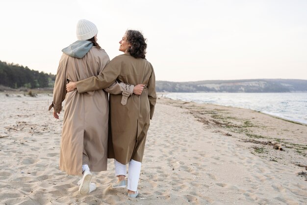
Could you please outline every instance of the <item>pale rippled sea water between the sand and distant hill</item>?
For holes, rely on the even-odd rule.
[[[183,101],[246,108],[307,124],[307,93],[180,93],[163,96]]]

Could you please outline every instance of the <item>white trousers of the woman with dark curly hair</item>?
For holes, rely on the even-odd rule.
[[[125,164],[121,164],[120,162],[114,159],[115,164],[115,176],[119,175],[127,175],[127,167]],[[128,165],[128,190],[136,191],[137,184],[139,183],[140,173],[141,173],[141,162],[135,161],[131,159]]]

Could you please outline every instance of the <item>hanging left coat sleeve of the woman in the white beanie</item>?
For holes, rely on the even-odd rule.
[[[53,88],[53,102],[49,107],[49,110],[53,107],[56,113],[62,111],[62,102],[66,96],[66,63],[67,58],[65,58],[64,54],[60,59],[59,66],[56,72],[56,78],[54,82]]]

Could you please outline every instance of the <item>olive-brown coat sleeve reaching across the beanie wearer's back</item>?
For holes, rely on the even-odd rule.
[[[112,59],[98,76],[76,82],[79,93],[110,87],[120,74],[120,63]]]

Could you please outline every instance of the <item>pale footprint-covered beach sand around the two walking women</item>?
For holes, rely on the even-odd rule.
[[[48,111],[52,95],[1,92],[0,99],[0,205],[307,204],[306,125],[159,97],[140,196],[111,188],[113,160],[93,173],[97,190],[80,195],[80,177],[58,169],[63,113],[56,120]]]

